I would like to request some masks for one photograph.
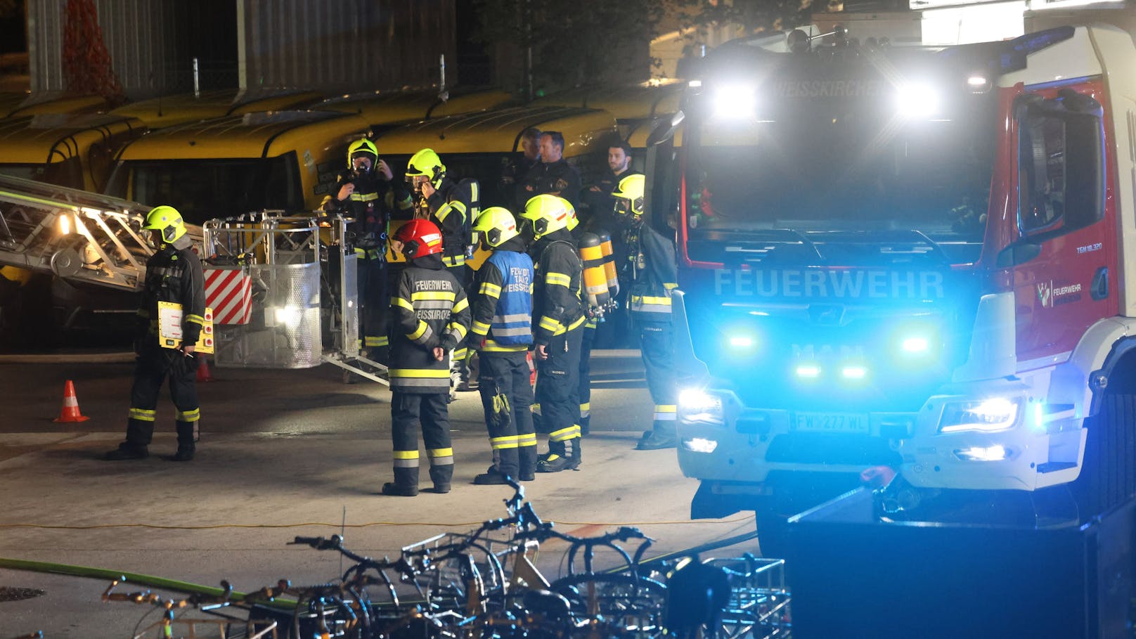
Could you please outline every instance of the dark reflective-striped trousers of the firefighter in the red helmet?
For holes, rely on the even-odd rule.
[[[445,393],[393,391],[391,393],[391,439],[394,443],[394,483],[418,488],[418,431],[426,441],[429,479],[435,488],[449,487],[453,479],[453,448],[450,447],[450,414]]]

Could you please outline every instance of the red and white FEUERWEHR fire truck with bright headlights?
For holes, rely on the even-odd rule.
[[[693,516],[760,528],[880,466],[895,511],[1136,492],[1136,25],[1089,15],[705,58],[652,191],[678,211]]]

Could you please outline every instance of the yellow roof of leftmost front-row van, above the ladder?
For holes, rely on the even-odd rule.
[[[91,144],[145,132],[142,121],[108,114],[44,114],[0,119],[0,163],[39,164],[82,156]]]

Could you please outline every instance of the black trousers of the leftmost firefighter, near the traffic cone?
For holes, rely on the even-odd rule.
[[[153,335],[147,338],[134,366],[131,412],[126,422],[127,445],[142,448],[153,439],[158,395],[167,375],[169,397],[177,409],[177,445],[192,446],[198,440],[198,421],[201,416],[197,387],[198,357],[201,355],[186,357],[179,350],[161,348]]]

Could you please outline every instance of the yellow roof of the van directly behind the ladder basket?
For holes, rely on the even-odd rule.
[[[258,111],[152,131],[123,149],[119,159],[275,157],[366,132],[367,123],[349,114]]]

